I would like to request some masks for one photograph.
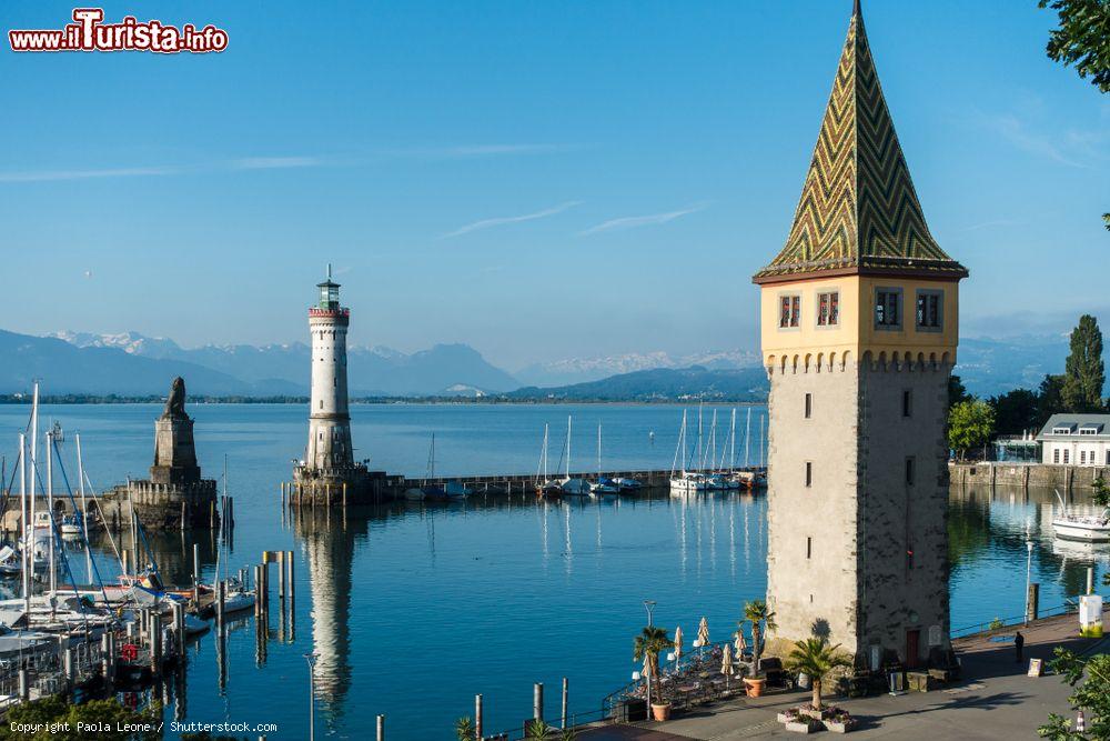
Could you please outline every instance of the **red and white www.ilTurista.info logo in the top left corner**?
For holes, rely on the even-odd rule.
[[[228,48],[228,32],[214,26],[199,29],[192,23],[181,28],[162,21],[140,22],[127,16],[119,23],[104,23],[102,8],[74,8],[73,23],[53,30],[11,30],[12,51],[154,51],[174,54],[182,51],[205,53]]]

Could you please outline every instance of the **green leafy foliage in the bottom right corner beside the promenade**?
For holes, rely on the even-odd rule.
[[[1058,648],[1056,659],[1049,665],[1064,682],[1076,688],[1068,702],[1072,710],[1083,710],[1087,730],[1079,733],[1072,729],[1070,719],[1052,713],[1048,723],[1037,729],[1037,733],[1051,741],[1110,739],[1110,655],[1099,653],[1083,658]]]

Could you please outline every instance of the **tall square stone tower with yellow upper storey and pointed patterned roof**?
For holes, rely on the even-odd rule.
[[[872,667],[948,648],[945,417],[967,274],[926,226],[857,0],[789,237],[753,279],[771,640],[827,631]]]

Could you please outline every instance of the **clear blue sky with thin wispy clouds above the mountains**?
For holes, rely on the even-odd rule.
[[[72,4],[0,8],[60,28]],[[221,54],[0,52],[3,329],[287,342],[325,262],[352,340],[508,368],[754,348],[850,0],[108,2]],[[1106,298],[1110,98],[1036,2],[865,0],[966,334]]]

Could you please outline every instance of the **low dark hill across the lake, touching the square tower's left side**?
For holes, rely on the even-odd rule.
[[[709,370],[734,370],[759,366],[759,353],[751,350],[706,351],[692,354],[630,352],[601,358],[571,358],[535,363],[514,375],[529,385],[564,385],[596,381],[609,375],[633,373],[658,368],[690,368],[700,366]]]

